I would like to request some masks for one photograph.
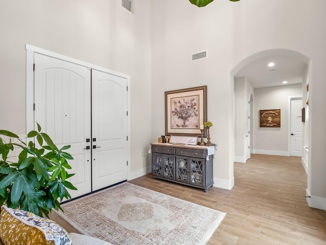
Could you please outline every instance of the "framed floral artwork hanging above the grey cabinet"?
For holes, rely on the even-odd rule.
[[[207,121],[207,86],[165,92],[166,135],[201,136],[204,121]]]

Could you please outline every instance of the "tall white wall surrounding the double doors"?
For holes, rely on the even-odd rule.
[[[150,0],[0,2],[0,128],[25,134],[25,43],[129,75],[131,176],[146,173],[151,132]]]

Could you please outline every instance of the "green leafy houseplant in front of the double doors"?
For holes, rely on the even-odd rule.
[[[48,217],[52,208],[61,209],[58,199],[71,199],[67,188],[76,190],[67,181],[74,174],[66,171],[71,169],[67,159],[73,158],[64,152],[70,145],[58,149],[39,124],[37,128],[27,137],[36,138],[38,148],[32,140],[26,144],[16,134],[0,130],[0,204]],[[18,157],[10,155],[14,150],[20,150]]]

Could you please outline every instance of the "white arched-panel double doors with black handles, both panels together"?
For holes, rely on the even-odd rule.
[[[34,119],[73,156],[72,198],[127,179],[127,79],[34,54]]]

